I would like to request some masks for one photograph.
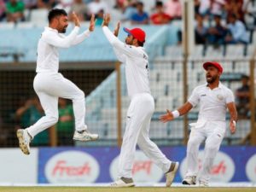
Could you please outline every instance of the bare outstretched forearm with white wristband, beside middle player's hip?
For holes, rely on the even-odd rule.
[[[160,121],[166,123],[170,120],[173,120],[179,116],[182,116],[185,113],[188,113],[190,109],[193,108],[193,105],[190,102],[186,102],[183,104],[182,107],[178,108],[177,110],[171,112],[168,109],[166,110],[166,114],[160,116]]]

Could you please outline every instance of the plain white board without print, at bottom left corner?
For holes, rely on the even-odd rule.
[[[0,183],[38,183],[38,148],[29,155],[20,148],[1,148],[0,162]]]

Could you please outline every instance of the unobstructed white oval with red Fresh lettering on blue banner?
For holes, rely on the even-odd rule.
[[[49,183],[93,183],[99,176],[96,159],[82,151],[55,154],[46,163],[44,173]]]

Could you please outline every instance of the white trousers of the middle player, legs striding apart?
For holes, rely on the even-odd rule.
[[[137,94],[131,99],[127,112],[125,135],[119,155],[119,177],[132,177],[131,170],[135,158],[136,145],[150,160],[168,172],[171,161],[166,158],[149,136],[149,125],[154,113],[154,98],[148,93]]]

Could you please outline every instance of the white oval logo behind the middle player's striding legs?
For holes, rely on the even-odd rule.
[[[118,178],[118,169],[119,169],[119,156],[113,159],[110,168],[110,176],[113,181]],[[142,151],[136,151],[135,161],[132,168],[132,177],[135,182],[160,182],[160,179],[163,177],[163,172],[158,166],[154,164],[152,160],[149,160],[148,157],[143,154]]]

